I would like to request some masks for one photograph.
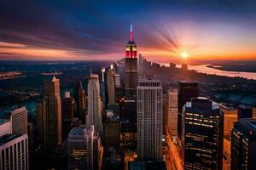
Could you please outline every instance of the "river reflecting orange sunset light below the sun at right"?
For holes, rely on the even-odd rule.
[[[239,72],[239,71],[221,71],[218,68],[210,68],[208,65],[189,65],[189,70],[201,72],[209,75],[218,75],[224,77],[243,77],[256,80],[255,72]]]

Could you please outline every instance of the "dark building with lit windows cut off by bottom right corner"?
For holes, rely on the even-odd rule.
[[[256,169],[256,120],[240,119],[231,131],[231,169]]]

